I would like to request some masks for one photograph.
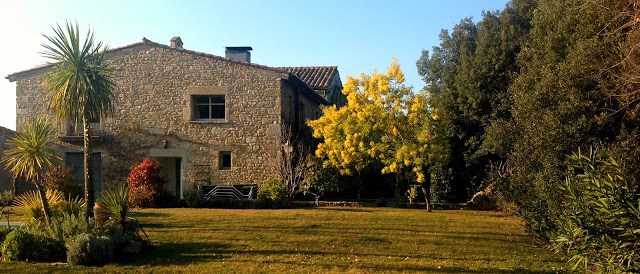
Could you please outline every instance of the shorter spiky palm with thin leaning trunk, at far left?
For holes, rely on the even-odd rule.
[[[27,123],[22,133],[7,141],[12,148],[5,151],[2,159],[15,177],[24,176],[27,181],[31,180],[36,185],[47,225],[51,211],[44,184],[40,181],[40,173],[51,167],[53,159],[60,159],[49,147],[55,136],[56,131],[51,121],[39,117]]]

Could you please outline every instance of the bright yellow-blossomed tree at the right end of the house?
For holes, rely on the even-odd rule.
[[[427,95],[414,93],[403,82],[396,61],[385,74],[348,77],[342,91],[347,105],[326,107],[322,117],[308,124],[314,137],[323,140],[316,150],[323,165],[350,175],[380,161],[382,173],[415,176],[430,210],[428,171],[442,162],[447,144]]]

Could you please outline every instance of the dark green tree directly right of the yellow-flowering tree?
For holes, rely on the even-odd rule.
[[[517,0],[502,11],[484,12],[477,24],[465,18],[451,33],[442,30],[440,45],[424,50],[417,62],[451,144],[445,168],[451,176],[436,177],[451,178],[455,200],[470,198],[486,167],[504,160],[484,144],[486,128],[492,119],[510,115],[507,90],[519,71],[516,55],[528,37],[534,8],[535,1]]]

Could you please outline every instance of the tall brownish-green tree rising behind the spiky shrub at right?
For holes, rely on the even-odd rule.
[[[612,18],[597,1],[540,2],[517,57],[520,74],[509,88],[511,115],[488,129],[494,146],[506,148],[511,167],[499,191],[529,232],[544,240],[554,237],[563,210],[566,155],[581,146],[606,146],[620,133],[619,117],[609,111],[617,108],[608,96],[615,80],[605,70],[619,60],[603,39]]]

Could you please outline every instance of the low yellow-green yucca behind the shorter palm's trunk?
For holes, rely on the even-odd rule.
[[[56,207],[64,202],[62,192],[57,190],[47,190],[45,197],[51,207]],[[38,191],[29,191],[16,197],[13,200],[13,206],[23,212],[30,220],[42,221],[45,218],[42,210],[42,200]]]

